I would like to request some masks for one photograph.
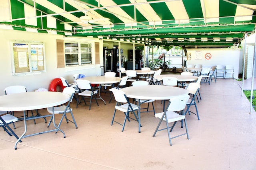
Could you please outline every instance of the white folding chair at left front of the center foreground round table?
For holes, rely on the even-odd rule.
[[[128,121],[130,121],[130,117],[129,117],[129,112],[132,112],[136,118],[136,120],[138,121],[138,112],[137,115],[134,113],[134,111],[138,111],[138,106],[136,104],[132,104],[129,102],[129,99],[126,97],[125,93],[119,89],[112,89],[112,92],[114,94],[115,100],[116,100],[116,106],[115,106],[115,110],[114,110],[114,114],[113,114],[113,118],[112,118],[112,122],[111,125],[113,125],[113,122],[118,123],[119,125],[122,125],[122,131],[124,131],[124,126],[126,123],[126,119]],[[125,114],[124,117],[124,123],[121,124],[117,121],[114,120],[115,115],[116,115],[116,110],[120,110]],[[131,118],[132,119],[132,118]]]

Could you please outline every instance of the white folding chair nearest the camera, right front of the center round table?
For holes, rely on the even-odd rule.
[[[155,114],[155,117],[160,119],[160,121],[159,121],[159,123],[156,127],[156,130],[154,132],[153,137],[155,137],[156,132],[167,129],[170,145],[172,145],[171,139],[176,138],[176,137],[180,137],[182,135],[187,135],[187,139],[189,139],[188,128],[187,128],[187,124],[186,124],[186,117],[184,115],[184,109],[186,107],[186,103],[188,102],[188,98],[189,98],[189,95],[174,97],[174,98],[169,100],[168,108],[167,108],[166,111],[164,111],[162,113],[156,113]],[[177,113],[178,111],[179,111],[179,113]],[[180,121],[180,120],[184,120],[185,127],[186,127],[186,133],[171,137],[170,132],[172,132],[174,126],[176,125],[176,122]],[[162,123],[162,121],[166,121],[166,128],[159,129],[159,126]],[[169,127],[168,123],[172,123],[172,122],[174,122],[173,125],[171,127]],[[171,129],[169,130],[169,128],[171,128]]]

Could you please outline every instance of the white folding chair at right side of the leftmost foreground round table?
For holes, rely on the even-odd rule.
[[[62,105],[62,106],[56,106],[54,107],[54,114],[62,114],[62,117],[60,119],[60,122],[58,124],[58,127],[60,127],[61,123],[62,123],[62,120],[66,119],[66,122],[68,123],[68,121],[72,122],[75,124],[75,127],[77,128],[77,125],[76,125],[76,120],[74,118],[74,115],[73,115],[73,112],[72,112],[72,108],[70,107],[70,102],[72,102],[72,99],[73,99],[73,96],[75,94],[75,89],[72,88],[72,87],[66,87],[63,89],[63,92],[62,93],[65,93],[65,94],[68,94],[70,96],[70,99],[68,101],[68,104],[65,106],[65,105]],[[53,110],[52,110],[52,107],[48,107],[47,108],[47,111],[49,113],[52,113],[53,114]],[[67,118],[66,116],[66,113],[70,113],[71,117],[72,117],[72,121],[70,119]],[[53,118],[53,117],[52,117]],[[48,126],[50,126],[51,122],[52,122],[52,118],[50,119],[49,123],[48,123]]]

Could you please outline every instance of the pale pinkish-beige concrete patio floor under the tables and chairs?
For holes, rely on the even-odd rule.
[[[60,132],[36,135],[22,139],[14,150],[16,138],[1,130],[0,169],[255,170],[256,113],[249,113],[250,103],[241,96],[239,82],[218,78],[216,83],[202,84],[200,94],[200,120],[196,115],[186,115],[189,140],[184,135],[172,139],[170,146],[166,131],[152,137],[158,124],[152,112],[141,114],[141,133],[133,120],[126,122],[122,132],[119,124],[110,125],[114,101],[106,106],[102,101],[100,106],[94,103],[90,111],[88,106],[76,109],[73,101],[78,129],[63,122],[61,129],[66,138]],[[108,101],[109,94],[104,99]],[[161,101],[155,101],[154,106],[156,112],[162,111]],[[40,113],[48,114],[46,109]],[[58,121],[60,115],[56,117]],[[116,120],[123,121],[124,115],[118,112]],[[14,131],[20,136],[24,123],[15,124]],[[28,121],[28,133],[46,129],[49,128],[41,119],[36,120],[36,125]],[[184,131],[177,123],[171,135]]]

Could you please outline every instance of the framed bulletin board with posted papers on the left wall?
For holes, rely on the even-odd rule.
[[[11,42],[13,75],[36,74],[46,71],[44,43]]]

